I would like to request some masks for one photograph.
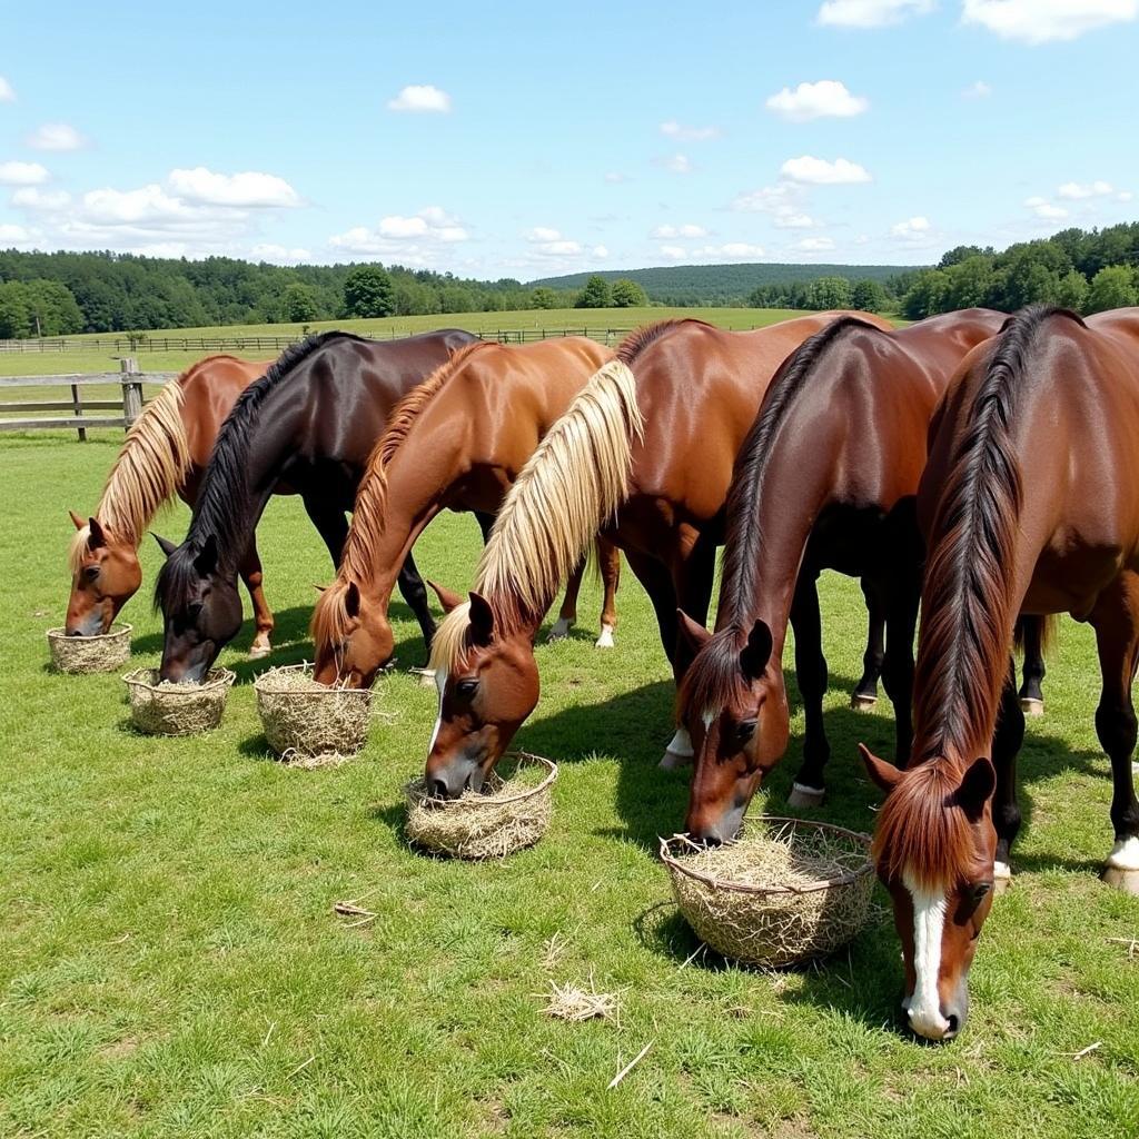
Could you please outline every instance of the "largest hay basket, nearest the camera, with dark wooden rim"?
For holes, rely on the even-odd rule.
[[[661,839],[680,912],[723,957],[780,968],[826,957],[866,925],[874,891],[869,835],[764,816],[763,833],[719,847]]]

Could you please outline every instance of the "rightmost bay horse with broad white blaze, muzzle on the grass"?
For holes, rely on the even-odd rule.
[[[861,748],[887,794],[874,858],[890,891],[912,1029],[956,1035],[993,886],[1021,823],[1019,613],[1096,632],[1096,731],[1112,763],[1104,877],[1139,893],[1131,683],[1139,661],[1139,309],[1087,321],[1031,308],[966,358],[918,493],[928,559],[913,688],[913,764]]]

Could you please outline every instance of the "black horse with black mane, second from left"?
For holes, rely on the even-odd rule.
[[[279,482],[301,495],[339,565],[344,513],[392,409],[474,341],[457,329],[384,342],[321,333],[287,349],[241,393],[218,434],[186,540],[158,540],[163,680],[200,680],[240,629],[237,567]],[[429,642],[434,622],[410,555],[400,589]]]

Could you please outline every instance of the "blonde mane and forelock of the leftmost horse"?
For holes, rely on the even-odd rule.
[[[188,374],[166,384],[134,420],[95,511],[104,527],[136,547],[190,469],[190,444],[182,421],[182,379]],[[82,566],[90,538],[91,527],[83,526],[72,539],[67,558],[73,574]]]

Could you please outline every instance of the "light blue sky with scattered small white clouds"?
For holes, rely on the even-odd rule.
[[[523,280],[1139,208],[1139,0],[9,6],[0,247]]]

